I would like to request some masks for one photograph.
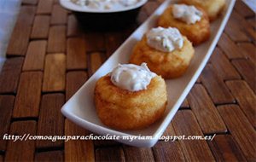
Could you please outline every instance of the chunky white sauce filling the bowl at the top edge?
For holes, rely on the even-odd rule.
[[[137,4],[141,0],[70,0],[88,9],[119,9]]]

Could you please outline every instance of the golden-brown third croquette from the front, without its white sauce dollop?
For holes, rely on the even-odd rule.
[[[210,38],[210,23],[206,12],[203,9],[197,8],[201,11],[201,20],[195,24],[187,24],[183,20],[178,20],[172,15],[173,5],[168,7],[163,14],[160,15],[158,26],[162,27],[176,27],[179,32],[186,36],[193,45],[198,45],[207,41]]]

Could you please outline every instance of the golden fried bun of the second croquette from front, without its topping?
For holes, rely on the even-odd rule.
[[[172,52],[162,52],[148,46],[146,34],[139,41],[131,54],[130,62],[140,65],[146,62],[150,71],[162,78],[177,78],[183,75],[189,67],[195,49],[188,38],[183,37],[183,47]]]

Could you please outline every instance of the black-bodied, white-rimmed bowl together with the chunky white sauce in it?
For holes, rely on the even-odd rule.
[[[79,23],[88,28],[106,29],[127,26],[137,18],[148,0],[60,0],[73,11]]]

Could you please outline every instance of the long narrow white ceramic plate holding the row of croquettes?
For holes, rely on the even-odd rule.
[[[215,48],[218,38],[224,30],[224,26],[230,17],[230,13],[234,7],[236,0],[226,0],[226,8],[222,16],[211,24],[212,36],[206,42],[195,47],[195,57],[193,58],[188,71],[181,78],[166,80],[168,105],[166,112],[162,119],[150,125],[148,128],[142,130],[127,130],[119,131],[108,128],[102,124],[96,114],[96,107],[94,104],[94,88],[96,81],[102,76],[111,72],[113,67],[118,63],[128,63],[131,50],[134,45],[143,37],[143,33],[147,32],[150,28],[155,27],[155,22],[163,13],[163,11],[171,4],[175,3],[173,0],[166,0],[158,9],[155,10],[148,20],[142,26],[137,28],[137,31],[131,34],[125,43],[117,49],[113,55],[106,61],[98,71],[90,77],[90,79],[67,101],[61,108],[67,119],[72,120],[74,123],[79,124],[86,130],[90,130],[97,135],[120,136],[118,142],[122,142],[136,147],[153,147],[166,130],[167,125],[171,122],[177,109],[182,104],[189,90],[191,90],[196,79],[201,74],[201,71],[206,66],[207,61],[212,55],[212,50]],[[127,136],[132,136],[132,140],[127,140]]]

